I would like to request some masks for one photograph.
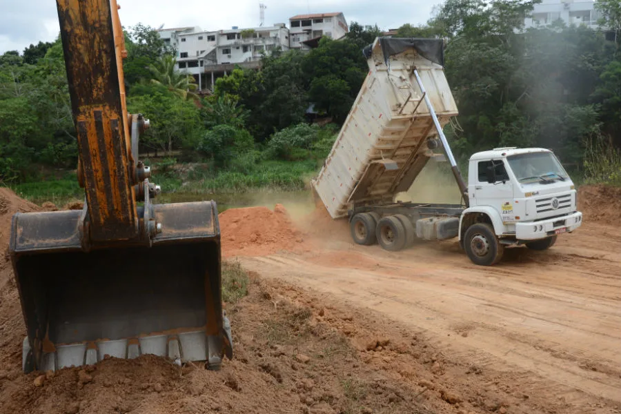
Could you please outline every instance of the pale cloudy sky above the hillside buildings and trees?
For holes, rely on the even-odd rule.
[[[440,0],[117,0],[125,27],[136,23],[159,28],[200,26],[205,30],[259,26],[259,1],[266,6],[265,23],[286,23],[295,14],[343,12],[347,23],[397,28],[424,23]],[[54,40],[59,32],[55,0],[0,0],[0,54],[30,43]]]

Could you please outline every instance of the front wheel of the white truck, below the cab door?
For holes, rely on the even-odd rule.
[[[498,242],[491,224],[477,223],[466,230],[464,249],[474,264],[492,266],[500,262],[504,245]]]

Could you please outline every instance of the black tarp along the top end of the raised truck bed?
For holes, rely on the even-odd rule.
[[[416,52],[440,66],[444,66],[444,41],[442,39],[421,39],[417,37],[380,37],[380,47],[384,54],[384,61],[388,63],[388,58],[414,48]],[[373,44],[366,46],[362,50],[366,59],[371,57]]]

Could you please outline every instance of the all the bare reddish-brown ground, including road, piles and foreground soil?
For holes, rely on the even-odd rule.
[[[0,256],[0,414],[620,413],[620,198],[578,197],[581,228],[493,268],[453,240],[354,245],[322,208],[295,224],[279,205],[226,210],[223,255],[251,282],[226,304],[234,358],[218,372],[143,356],[24,375]],[[0,189],[0,248],[12,213],[37,209]]]

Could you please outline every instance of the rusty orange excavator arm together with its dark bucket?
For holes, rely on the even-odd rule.
[[[57,8],[86,201],[12,219],[23,370],[142,354],[217,369],[233,353],[217,206],[152,201],[159,186],[137,161],[148,120],[126,110],[116,1],[57,0]]]

